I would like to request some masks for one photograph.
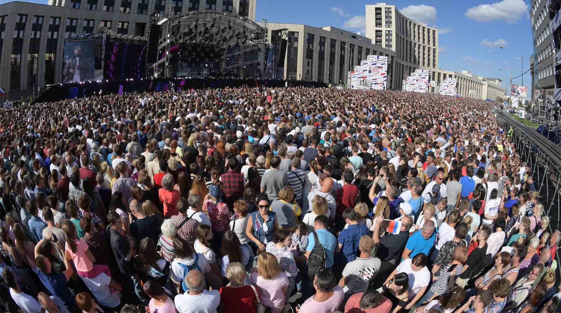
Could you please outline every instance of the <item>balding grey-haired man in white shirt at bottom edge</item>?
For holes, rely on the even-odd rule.
[[[199,270],[191,269],[185,275],[185,284],[188,291],[175,297],[177,311],[216,313],[220,305],[218,290],[205,289],[205,277]]]

